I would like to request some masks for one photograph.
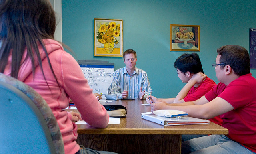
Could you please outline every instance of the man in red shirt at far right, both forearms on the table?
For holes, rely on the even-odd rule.
[[[215,67],[218,85],[196,101],[169,105],[195,118],[220,115],[228,135],[210,135],[182,142],[182,153],[256,152],[256,79],[250,73],[248,51],[238,45],[217,49]],[[151,105],[161,109],[164,103]],[[175,106],[176,105],[176,106]],[[177,106],[179,105],[179,106]]]

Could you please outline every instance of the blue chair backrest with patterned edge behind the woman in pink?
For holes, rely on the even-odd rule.
[[[52,110],[34,89],[0,73],[0,153],[64,154]]]

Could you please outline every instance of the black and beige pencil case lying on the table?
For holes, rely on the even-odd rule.
[[[103,105],[108,112],[109,117],[125,118],[127,114],[126,107],[123,105]]]

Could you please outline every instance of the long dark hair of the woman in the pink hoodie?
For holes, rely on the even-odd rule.
[[[42,39],[54,39],[55,28],[55,12],[48,0],[0,0],[1,73],[4,72],[8,56],[12,53],[11,76],[18,78],[22,56],[27,48],[26,59],[32,62],[33,75],[36,67],[34,57],[36,57],[44,76],[42,59],[38,50],[38,45],[40,45],[57,81],[42,41]],[[46,80],[45,76],[44,79]]]

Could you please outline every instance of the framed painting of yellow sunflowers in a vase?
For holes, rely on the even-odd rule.
[[[123,20],[94,18],[94,56],[123,56]]]

